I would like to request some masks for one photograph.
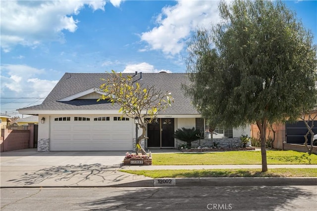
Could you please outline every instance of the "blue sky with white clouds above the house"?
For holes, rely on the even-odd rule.
[[[284,1],[317,43],[317,1]],[[214,0],[0,1],[1,113],[40,104],[65,72],[186,71],[186,41]]]

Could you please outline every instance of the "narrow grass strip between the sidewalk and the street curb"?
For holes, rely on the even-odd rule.
[[[201,170],[120,170],[152,178],[182,177],[317,177],[317,169],[201,169]]]

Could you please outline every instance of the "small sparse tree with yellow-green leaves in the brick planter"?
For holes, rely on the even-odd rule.
[[[105,83],[101,84],[99,89],[104,94],[99,100],[108,100],[120,106],[119,113],[131,118],[138,118],[138,127],[142,129],[141,135],[136,139],[136,153],[146,154],[141,146],[141,140],[147,139],[146,128],[149,123],[157,118],[159,111],[171,106],[174,99],[169,92],[162,92],[156,89],[154,85],[143,85],[139,83],[133,76],[123,75],[111,71],[106,79],[102,79]],[[98,101],[99,101],[98,100]]]

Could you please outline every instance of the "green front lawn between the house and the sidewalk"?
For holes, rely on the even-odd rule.
[[[267,164],[317,164],[317,155],[296,151],[266,151]],[[262,164],[261,151],[152,153],[152,165]]]

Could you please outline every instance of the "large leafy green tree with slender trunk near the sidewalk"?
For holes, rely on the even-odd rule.
[[[316,104],[317,47],[281,1],[235,0],[218,8],[222,21],[198,29],[188,43],[192,84],[183,88],[212,125],[256,123],[267,171],[267,125],[297,119]]]

